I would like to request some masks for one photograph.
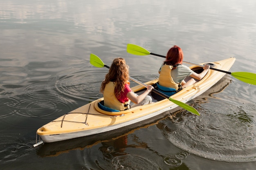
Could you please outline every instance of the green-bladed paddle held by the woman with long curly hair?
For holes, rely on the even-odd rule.
[[[90,55],[90,63],[91,63],[93,66],[95,66],[95,67],[99,67],[99,68],[101,68],[101,67],[110,68],[109,66],[107,66],[106,64],[104,64],[104,63],[102,62],[102,60],[101,60],[97,55],[95,55],[95,54],[91,54],[91,55]],[[138,80],[136,80],[136,79],[134,79],[134,78],[132,78],[132,77],[129,77],[129,78],[130,78],[132,81],[134,81],[134,82],[140,84],[141,86],[144,86],[144,87],[147,87],[147,86],[148,86],[148,85],[146,85],[146,84],[144,84],[144,83],[139,82]],[[160,91],[157,91],[156,89],[153,89],[152,91],[153,91],[154,93],[157,93],[158,95],[161,95],[162,97],[165,97],[166,99],[169,99],[171,102],[173,102],[174,104],[177,104],[177,105],[180,106],[181,108],[184,108],[184,109],[190,111],[191,113],[194,113],[195,115],[200,115],[200,114],[198,113],[198,111],[197,111],[195,108],[193,108],[192,106],[189,106],[188,104],[185,104],[185,103],[183,103],[183,102],[180,102],[180,101],[178,101],[178,100],[175,100],[175,99],[169,97],[168,95],[165,95],[164,93],[162,93],[162,92],[160,92]]]

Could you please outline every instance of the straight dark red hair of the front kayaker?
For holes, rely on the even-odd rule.
[[[171,49],[169,49],[164,63],[174,66],[176,64],[182,64],[182,60],[183,60],[182,49],[179,46],[174,45]]]

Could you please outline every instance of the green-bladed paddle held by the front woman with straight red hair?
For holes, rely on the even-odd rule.
[[[130,54],[134,54],[134,55],[150,55],[151,54],[151,55],[156,55],[158,57],[166,58],[164,55],[150,53],[148,50],[144,49],[141,46],[135,45],[135,44],[127,44],[127,52],[130,53]],[[184,60],[183,60],[183,62],[185,62],[187,64],[192,64],[192,65],[204,67],[203,65],[195,64],[195,63],[192,63],[192,62],[186,62]],[[230,75],[232,75],[236,79],[239,79],[242,82],[256,85],[256,74],[255,73],[249,73],[249,72],[234,72],[234,73],[231,73],[229,71],[219,70],[219,69],[213,68],[213,67],[210,67],[210,69],[230,74]]]

